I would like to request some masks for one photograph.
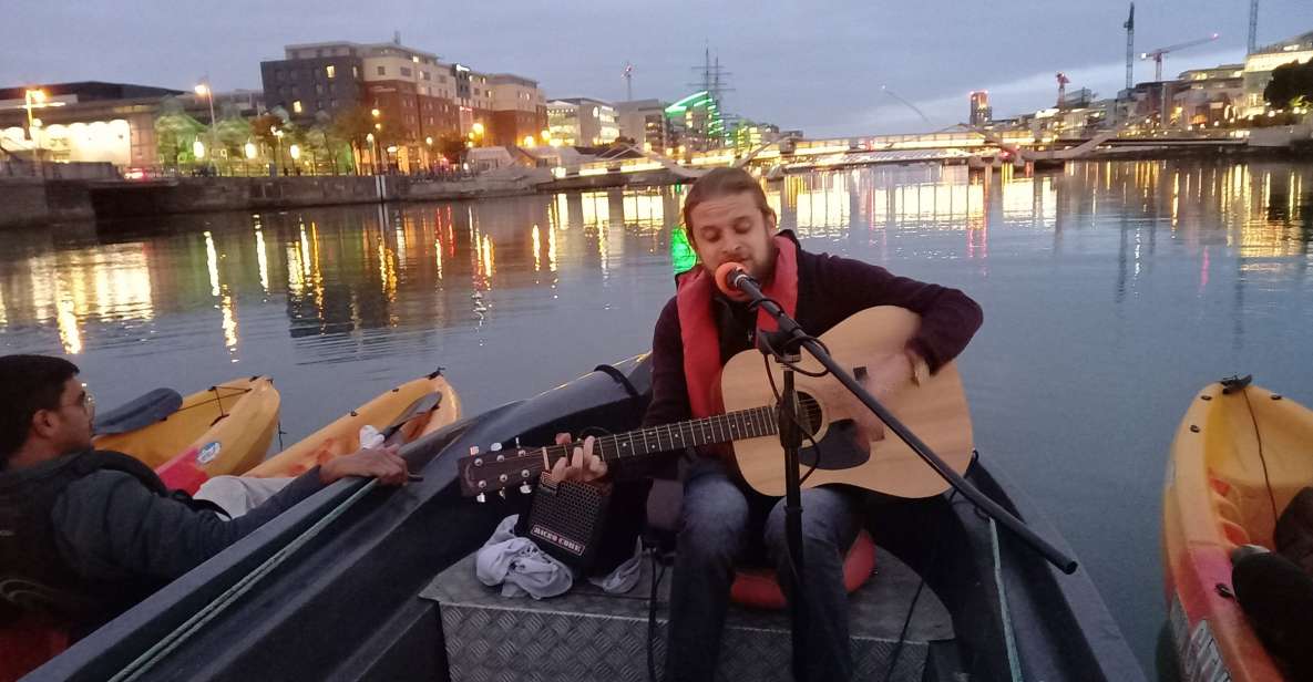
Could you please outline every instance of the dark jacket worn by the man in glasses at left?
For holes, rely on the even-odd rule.
[[[80,452],[0,472],[0,581],[9,586],[0,589],[0,601],[87,631],[319,488],[312,470],[226,521],[117,452]]]

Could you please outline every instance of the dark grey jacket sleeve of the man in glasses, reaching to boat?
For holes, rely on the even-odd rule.
[[[234,521],[152,493],[122,471],[97,471],[64,491],[51,512],[55,544],[91,580],[173,580],[319,491],[319,468]]]

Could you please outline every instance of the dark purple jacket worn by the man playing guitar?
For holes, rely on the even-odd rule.
[[[781,235],[797,237],[784,231]],[[746,304],[717,294],[712,298],[713,319],[721,337],[721,365],[751,346],[748,333],[755,316]],[[798,249],[798,304],[794,319],[802,329],[821,336],[855,312],[874,306],[897,306],[920,315],[920,329],[910,346],[937,371],[966,348],[981,327],[981,307],[956,289],[927,285],[895,277],[876,265],[840,258],[829,253]],[[643,426],[656,426],[692,417],[684,382],[684,344],[679,328],[679,308],[672,296],[662,308],[653,334],[653,401]]]

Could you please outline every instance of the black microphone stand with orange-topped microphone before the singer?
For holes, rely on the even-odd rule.
[[[817,342],[815,338],[807,336],[807,333],[802,331],[798,323],[793,317],[789,317],[783,308],[780,308],[779,303],[776,303],[765,294],[763,294],[762,287],[756,282],[756,279],[752,279],[752,277],[743,270],[735,270],[729,275],[727,281],[733,289],[737,289],[738,291],[747,294],[751,298],[751,304],[750,304],[751,308],[762,308],[768,315],[771,315],[771,317],[775,317],[775,321],[780,329],[776,333],[779,334],[779,337],[786,340],[783,344],[773,345],[773,348],[776,349],[775,355],[777,361],[783,362],[781,359],[783,350],[780,349],[788,349],[789,346],[802,346],[807,349],[807,351],[811,353],[811,355],[818,362],[821,362],[821,365],[826,370],[829,370],[830,374],[832,374],[834,378],[838,379],[844,388],[847,388],[853,396],[856,396],[857,400],[861,400],[861,404],[867,405],[867,409],[869,409],[877,417],[880,417],[880,421],[885,422],[885,425],[889,426],[889,430],[894,431],[898,435],[898,438],[901,438],[905,443],[907,443],[907,446],[911,447],[913,451],[916,452],[916,455],[919,455],[926,462],[926,464],[928,464],[940,476],[943,476],[943,479],[948,481],[949,485],[957,489],[957,492],[960,492],[964,497],[970,500],[970,502],[976,505],[976,509],[978,509],[981,513],[990,517],[994,522],[1003,526],[1015,536],[1022,539],[1032,550],[1039,552],[1046,561],[1057,567],[1058,571],[1066,574],[1075,573],[1077,563],[1074,559],[1064,553],[1057,547],[1053,547],[1053,544],[1050,544],[1037,532],[1031,530],[1019,518],[1014,517],[1007,509],[1003,509],[1002,505],[991,500],[985,493],[979,492],[978,488],[972,485],[966,479],[964,479],[961,475],[953,471],[952,467],[945,464],[944,460],[940,459],[940,456],[936,455],[930,449],[930,446],[927,446],[919,437],[916,437],[915,433],[911,431],[911,429],[903,425],[903,422],[898,421],[897,417],[894,417],[882,404],[880,404],[880,401],[876,400],[876,396],[871,395],[871,392],[867,391],[865,387],[863,387],[860,383],[857,383],[857,380],[851,374],[848,374],[847,370],[840,367],[834,361],[834,358],[831,358],[830,354],[826,353],[826,350],[821,346],[821,344]],[[792,376],[788,372],[788,365],[785,365],[785,370],[786,370],[785,382],[788,382],[786,390],[792,390]],[[785,430],[785,421],[789,422],[793,421],[793,414],[785,414],[785,412],[786,411],[783,409],[780,411],[781,442]],[[789,418],[785,420],[784,417]],[[790,424],[790,426],[794,426],[794,424]],[[788,449],[785,449],[785,456],[788,458]],[[798,489],[800,481],[798,481],[798,467],[797,467],[797,450],[794,450],[793,456],[794,459],[786,464],[789,468],[785,472],[785,485],[788,488],[786,500],[788,498],[797,500],[798,496],[801,494],[801,491]],[[801,522],[801,509],[798,510],[798,514],[800,514],[798,521]],[[788,519],[789,517],[785,518]],[[788,531],[788,526],[785,527],[785,530]],[[798,535],[801,536],[801,527]],[[801,542],[798,543],[798,546],[794,546],[792,534],[788,538],[790,544],[789,552],[793,553],[793,556],[796,557],[801,557],[802,556]],[[800,561],[798,569],[801,571],[802,568],[801,559],[798,561]],[[794,586],[801,585],[801,580],[798,577],[796,577],[796,580],[797,582],[794,584]],[[794,592],[794,597],[797,594],[798,592]],[[797,653],[797,651],[794,651],[794,653]]]

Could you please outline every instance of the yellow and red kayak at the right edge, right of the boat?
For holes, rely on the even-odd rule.
[[[1276,519],[1313,485],[1310,443],[1313,412],[1247,379],[1205,387],[1176,429],[1162,538],[1183,681],[1224,673],[1234,682],[1283,679],[1229,594],[1230,552],[1241,544],[1274,550]]]

